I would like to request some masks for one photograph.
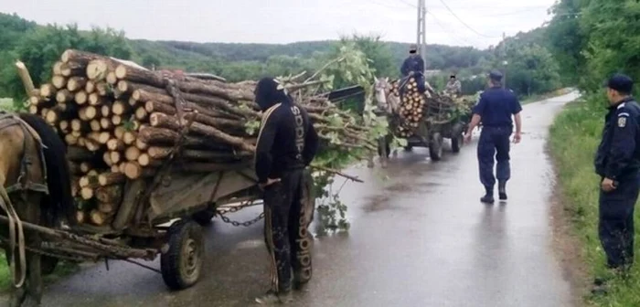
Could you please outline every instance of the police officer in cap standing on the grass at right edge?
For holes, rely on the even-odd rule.
[[[615,74],[607,82],[609,112],[595,158],[601,177],[598,232],[607,266],[625,272],[634,260],[634,207],[640,188],[640,106],[631,97],[633,80]],[[596,280],[596,287],[603,280]]]

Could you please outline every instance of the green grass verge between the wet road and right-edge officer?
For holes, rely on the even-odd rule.
[[[561,206],[570,218],[572,235],[581,243],[581,258],[590,277],[606,273],[597,232],[598,176],[593,171],[593,154],[600,143],[604,109],[594,105],[597,103],[571,103],[551,126],[549,140],[561,186]],[[636,220],[637,217],[638,211]],[[636,238],[640,238],[638,230],[636,227]],[[640,266],[635,266],[629,280],[614,280],[609,294],[589,295],[584,300],[597,306],[640,306]]]

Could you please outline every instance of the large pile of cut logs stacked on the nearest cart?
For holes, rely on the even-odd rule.
[[[101,226],[117,211],[127,180],[153,177],[169,160],[179,172],[251,164],[261,119],[254,86],[255,81],[151,71],[69,49],[53,66],[49,82],[30,97],[29,111],[41,115],[68,145],[78,221]],[[304,84],[292,90],[301,88]],[[334,146],[343,149],[375,150],[367,128],[353,124],[330,101],[297,100],[325,143],[337,138]]]

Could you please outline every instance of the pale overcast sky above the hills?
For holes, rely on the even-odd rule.
[[[354,32],[415,42],[418,0],[0,0],[40,24],[111,26],[127,37],[290,43]],[[427,43],[486,48],[549,20],[554,0],[426,0]],[[445,5],[449,6],[450,12]],[[455,16],[464,21],[459,21]],[[466,26],[464,25],[466,24]]]

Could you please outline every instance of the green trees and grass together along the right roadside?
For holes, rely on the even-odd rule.
[[[640,25],[620,20],[640,17],[635,0],[560,0],[546,36],[549,50],[560,65],[560,77],[582,92],[580,102],[562,111],[550,130],[550,149],[555,159],[561,205],[573,235],[581,242],[584,269],[592,278],[605,273],[604,252],[598,238],[599,178],[593,157],[601,139],[606,98],[603,80],[621,72],[635,79],[640,88]],[[635,219],[640,217],[635,211]],[[640,244],[635,223],[635,268],[628,280],[614,280],[606,295],[587,294],[585,301],[598,306],[640,306]]]

